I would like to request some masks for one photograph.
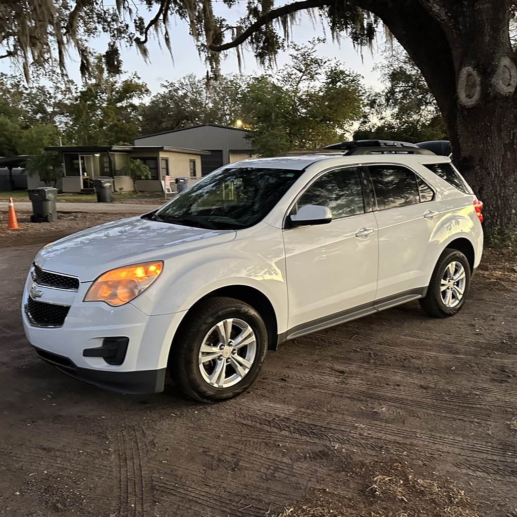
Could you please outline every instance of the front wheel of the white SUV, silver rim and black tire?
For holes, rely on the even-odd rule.
[[[233,298],[196,306],[174,338],[169,370],[187,396],[200,402],[237,397],[255,381],[267,350],[260,314]]]

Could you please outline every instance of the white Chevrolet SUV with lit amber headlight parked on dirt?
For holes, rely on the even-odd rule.
[[[428,151],[429,152],[429,151]],[[63,373],[125,393],[235,397],[266,349],[419,299],[457,313],[481,203],[445,157],[319,154],[226,165],[144,216],[45,246],[27,339]]]

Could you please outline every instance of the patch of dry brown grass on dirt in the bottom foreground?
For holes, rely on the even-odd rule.
[[[384,469],[373,472],[369,486],[353,498],[320,492],[277,517],[479,517],[477,505],[453,481],[421,479],[399,463]]]

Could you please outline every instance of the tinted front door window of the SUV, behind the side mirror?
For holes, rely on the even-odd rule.
[[[327,172],[301,195],[297,207],[303,205],[327,206],[333,219],[362,214],[364,200],[359,168],[347,167]]]

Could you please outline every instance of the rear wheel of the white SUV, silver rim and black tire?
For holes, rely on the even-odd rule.
[[[465,304],[469,287],[467,257],[461,251],[446,248],[438,258],[427,294],[418,300],[420,307],[436,318],[453,316]]]

